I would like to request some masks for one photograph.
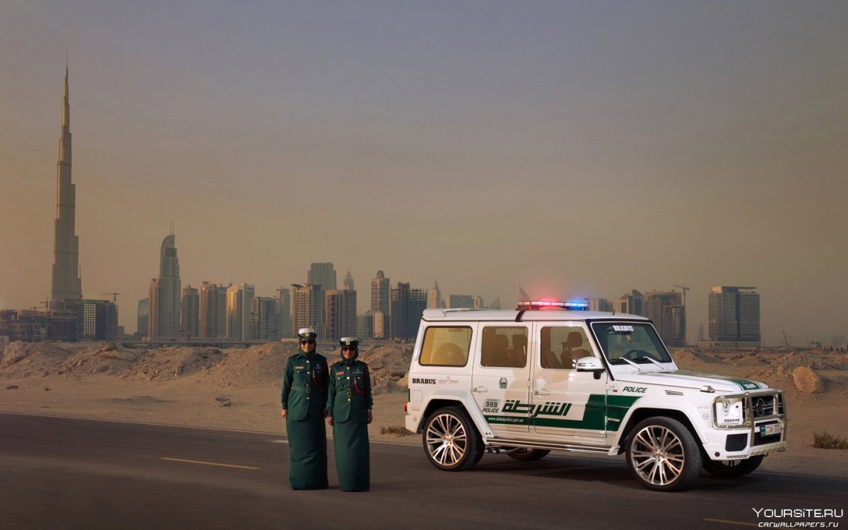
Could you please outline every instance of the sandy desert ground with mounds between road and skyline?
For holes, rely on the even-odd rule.
[[[113,343],[11,343],[0,357],[0,412],[165,425],[285,432],[282,371],[296,346],[249,349],[127,349]],[[319,348],[331,363],[338,350]],[[848,436],[848,354],[672,352],[681,368],[747,377],[784,390],[789,451],[762,471],[845,477],[848,450],[813,447],[813,432]],[[381,434],[404,425],[410,347],[365,346],[375,393],[371,439],[421,444],[419,436]]]

